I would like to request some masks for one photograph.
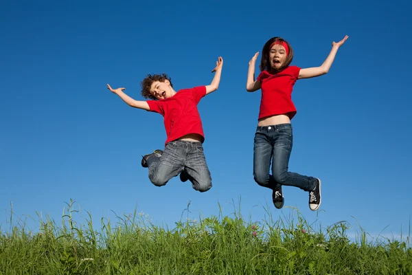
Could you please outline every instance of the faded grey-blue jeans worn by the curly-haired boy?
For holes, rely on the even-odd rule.
[[[172,177],[185,173],[194,190],[205,192],[211,188],[211,175],[201,142],[175,140],[166,144],[163,155],[150,155],[149,179],[155,186],[164,186]]]

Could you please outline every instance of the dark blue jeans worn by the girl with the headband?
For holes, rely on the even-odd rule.
[[[313,190],[316,178],[288,172],[293,145],[292,124],[258,126],[253,148],[253,177],[260,185],[277,190],[282,185]],[[269,169],[272,162],[272,175]]]

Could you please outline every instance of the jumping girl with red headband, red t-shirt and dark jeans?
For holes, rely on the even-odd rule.
[[[296,109],[291,94],[296,80],[312,78],[329,72],[339,47],[348,36],[338,43],[332,43],[332,50],[321,67],[301,69],[289,66],[293,60],[293,50],[281,37],[269,39],[263,46],[260,74],[255,81],[255,63],[259,52],[249,61],[246,90],[262,89],[258,127],[253,148],[253,177],[260,185],[273,190],[275,207],[284,206],[282,185],[296,186],[309,192],[309,208],[317,210],[321,205],[321,180],[288,172],[293,133],[290,120]],[[272,175],[269,169],[272,161]]]

